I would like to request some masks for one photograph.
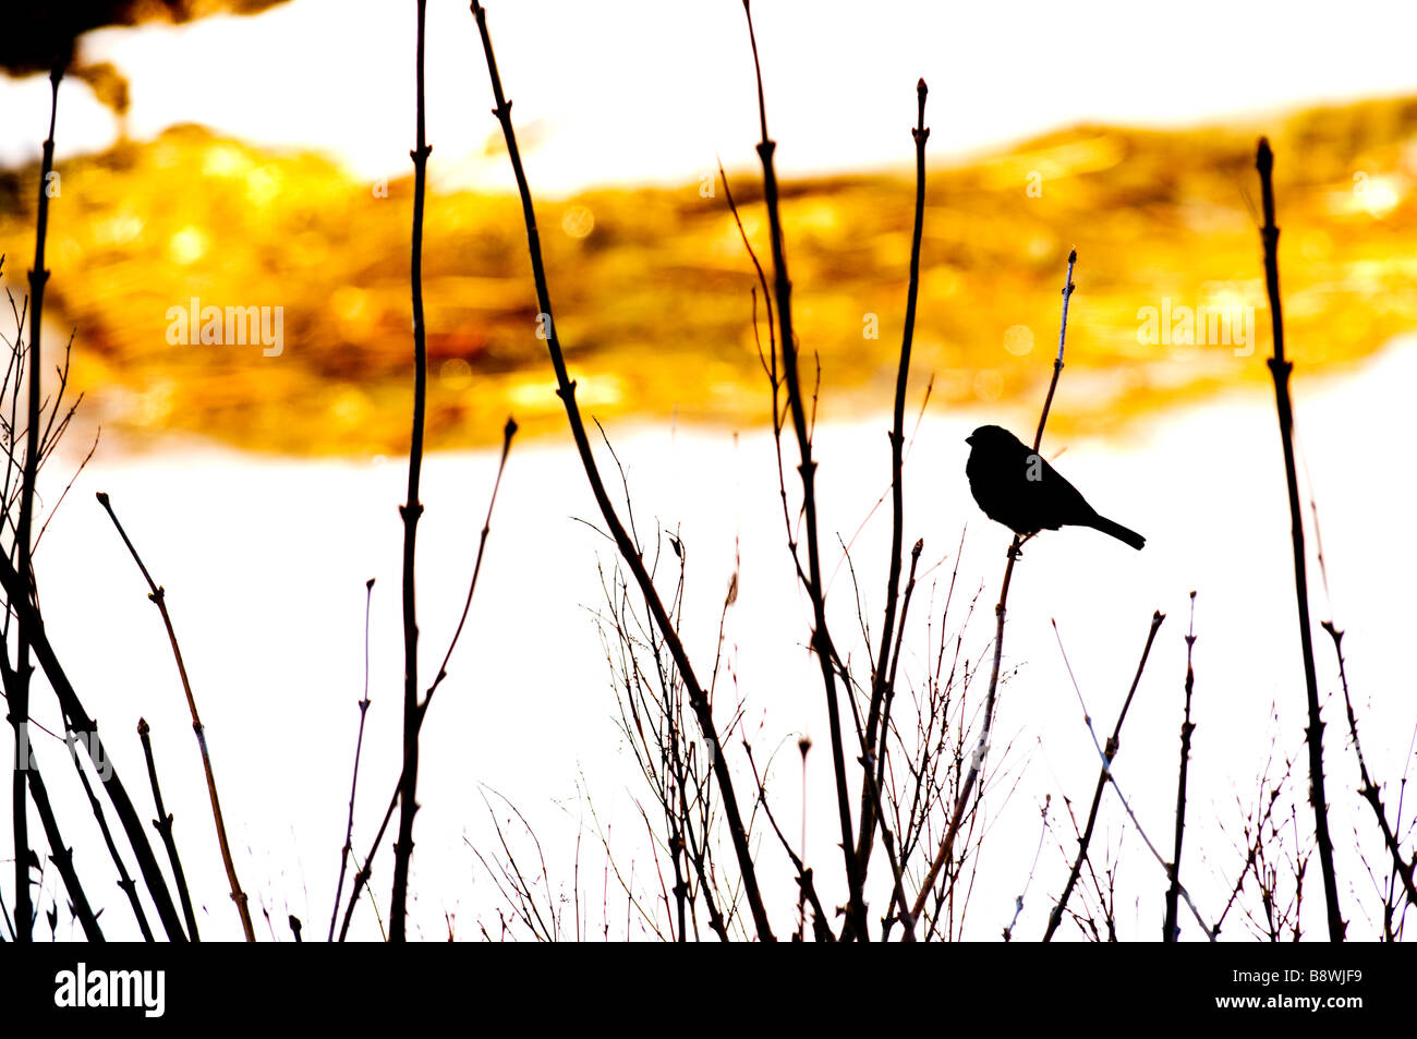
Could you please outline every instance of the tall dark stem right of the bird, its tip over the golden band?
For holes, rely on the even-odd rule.
[[[1255,153],[1260,191],[1264,198],[1264,282],[1270,293],[1270,319],[1274,329],[1274,400],[1280,412],[1280,444],[1284,448],[1284,478],[1289,489],[1289,530],[1294,541],[1294,594],[1299,607],[1299,652],[1304,655],[1304,687],[1308,696],[1309,726],[1309,799],[1314,804],[1314,836],[1319,846],[1319,872],[1323,875],[1323,904],[1328,910],[1329,941],[1343,941],[1346,924],[1338,904],[1338,879],[1333,873],[1333,841],[1328,828],[1328,799],[1323,795],[1323,721],[1319,719],[1319,689],[1314,669],[1314,635],[1309,631],[1309,581],[1304,556],[1304,512],[1299,506],[1299,478],[1294,466],[1294,408],[1289,403],[1289,373],[1294,363],[1284,356],[1284,312],[1280,308],[1280,228],[1274,223],[1274,152],[1260,137]]]

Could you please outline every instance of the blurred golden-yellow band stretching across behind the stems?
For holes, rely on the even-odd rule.
[[[1305,373],[1367,357],[1417,327],[1417,98],[1311,109],[1267,129],[1291,356]],[[1260,352],[1268,349],[1255,130],[1080,126],[932,166],[917,390],[932,380],[944,404],[1037,397],[1073,247],[1077,393],[1054,417],[1060,431],[1115,432],[1153,408],[1267,378],[1227,343],[1138,342],[1142,308],[1253,306]],[[45,316],[65,337],[78,330],[75,386],[120,444],[184,431],[295,454],[407,448],[411,179],[370,183],[313,153],[197,126],[120,142],[58,172]],[[758,183],[752,170],[730,174],[765,259]],[[16,292],[37,184],[37,164],[0,174],[0,242]],[[897,174],[786,186],[796,325],[808,363],[820,357],[833,414],[890,400],[913,194]],[[601,417],[767,421],[755,279],[720,184],[582,191],[543,201],[538,221],[585,407]],[[560,428],[516,200],[435,194],[424,271],[431,445],[492,442],[507,412],[531,432]],[[191,298],[282,308],[281,354],[169,343],[169,308]]]

